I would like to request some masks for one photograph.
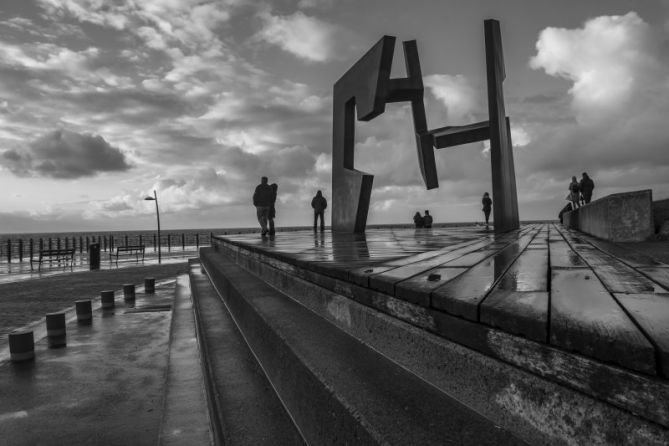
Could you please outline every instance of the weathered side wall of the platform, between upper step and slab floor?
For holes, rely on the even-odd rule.
[[[451,342],[430,333],[429,317],[416,318],[411,304],[389,296],[382,302],[380,293],[360,299],[353,284],[220,241],[217,248],[201,257],[233,260],[531,444],[594,444],[602,435],[632,444],[669,438],[666,397],[659,396],[669,395],[664,382],[453,317],[441,321],[463,333]],[[408,313],[413,317],[404,318]],[[478,339],[479,348],[467,338]]]

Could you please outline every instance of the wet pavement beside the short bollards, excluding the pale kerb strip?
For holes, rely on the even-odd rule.
[[[49,348],[43,323],[35,360],[0,351],[0,444],[155,444],[163,416],[174,280],[94,305],[90,325],[66,314],[67,345]]]

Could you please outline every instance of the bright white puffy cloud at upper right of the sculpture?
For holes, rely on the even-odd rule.
[[[597,17],[579,29],[543,30],[530,66],[573,82],[577,117],[599,121],[600,114],[629,112],[634,101],[666,90],[660,38],[635,12]]]

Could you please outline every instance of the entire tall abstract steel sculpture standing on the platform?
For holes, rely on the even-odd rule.
[[[518,229],[518,197],[509,119],[504,109],[504,56],[497,20],[486,20],[485,47],[489,120],[427,129],[423,79],[416,41],[404,42],[407,77],[391,79],[395,38],[383,36],[334,85],[332,128],[332,228],[365,232],[373,175],[354,168],[355,114],[370,121],[387,103],[411,102],[418,164],[427,189],[439,187],[434,149],[490,140],[495,232]]]

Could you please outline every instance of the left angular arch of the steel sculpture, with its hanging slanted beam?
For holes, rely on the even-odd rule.
[[[416,42],[404,42],[406,78],[390,79],[395,38],[384,36],[334,85],[332,122],[332,229],[361,233],[374,176],[355,169],[355,119],[369,121],[385,111],[388,102],[410,101],[414,130],[427,131],[423,79]],[[437,187],[431,141],[416,139],[421,172],[428,188]]]

